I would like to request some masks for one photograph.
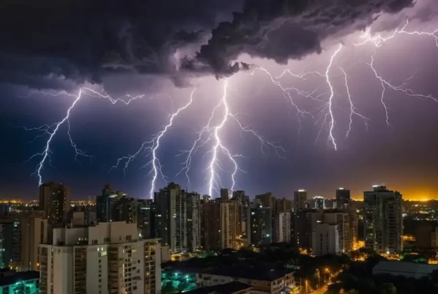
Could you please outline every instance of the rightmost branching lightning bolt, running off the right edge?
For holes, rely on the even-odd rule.
[[[417,98],[422,98],[422,99],[432,99],[433,101],[438,102],[438,99],[433,97],[431,94],[429,94],[429,95],[417,94],[412,89],[406,88],[407,82],[409,81],[409,79],[412,79],[414,76],[410,76],[409,78],[407,78],[403,84],[401,84],[399,86],[395,86],[395,85],[391,84],[389,81],[387,81],[384,77],[382,77],[374,67],[374,61],[375,61],[374,57],[375,57],[376,52],[377,52],[376,49],[381,47],[382,45],[384,45],[387,41],[393,39],[398,34],[405,34],[405,35],[410,35],[410,36],[412,36],[412,35],[431,36],[434,38],[435,44],[438,47],[438,36],[436,35],[438,33],[438,29],[435,30],[434,32],[418,32],[418,31],[408,32],[408,31],[406,31],[406,27],[408,24],[409,24],[409,20],[406,18],[406,22],[402,26],[402,28],[401,29],[397,28],[389,37],[386,37],[386,38],[381,37],[380,34],[377,34],[376,36],[372,37],[369,30],[367,30],[365,32],[365,34],[362,36],[362,38],[365,38],[365,40],[361,43],[354,44],[355,46],[362,46],[366,43],[372,43],[376,47],[374,50],[374,54],[371,56],[371,62],[368,63],[368,65],[370,66],[371,70],[373,71],[375,77],[380,81],[380,84],[382,87],[382,91],[380,94],[380,102],[384,106],[385,115],[386,115],[386,123],[388,126],[390,126],[389,116],[388,116],[388,107],[387,107],[385,100],[384,100],[387,87],[389,89],[394,90],[394,91],[401,91],[410,97],[417,97]]]

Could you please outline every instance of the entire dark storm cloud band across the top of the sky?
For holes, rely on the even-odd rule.
[[[286,63],[320,52],[324,38],[346,28],[361,29],[375,13],[395,13],[412,4],[413,0],[4,0],[0,82],[69,89],[74,83],[100,83],[105,74],[134,72],[169,76],[184,86],[186,74],[220,76],[248,69],[250,65],[234,61],[242,53]],[[216,27],[232,11],[238,12]],[[175,57],[179,50],[185,57]]]

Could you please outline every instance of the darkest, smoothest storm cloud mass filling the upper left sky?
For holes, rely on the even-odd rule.
[[[199,43],[239,7],[238,0],[4,0],[0,82],[65,89],[106,73],[172,75],[175,50]]]

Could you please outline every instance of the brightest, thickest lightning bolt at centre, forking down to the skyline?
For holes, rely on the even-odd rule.
[[[277,155],[281,157],[280,151],[285,152],[284,148],[281,146],[278,146],[271,141],[268,141],[266,138],[260,135],[257,131],[251,129],[249,126],[244,126],[238,119],[236,114],[233,114],[230,110],[230,106],[228,103],[228,91],[229,91],[229,81],[228,79],[225,79],[224,81],[224,88],[223,88],[223,96],[220,99],[220,101],[214,106],[211,116],[207,122],[207,124],[201,128],[201,130],[198,133],[198,138],[194,141],[193,145],[188,150],[181,151],[181,155],[186,155],[185,161],[182,163],[183,167],[178,172],[180,174],[181,172],[185,171],[185,175],[187,177],[187,184],[190,183],[190,177],[188,175],[188,172],[190,170],[190,165],[192,161],[192,156],[196,153],[196,151],[207,144],[208,142],[212,141],[213,145],[211,147],[211,150],[208,151],[206,154],[211,153],[211,159],[207,167],[208,171],[208,184],[207,184],[207,193],[208,195],[213,195],[213,190],[217,190],[218,186],[222,184],[221,177],[218,175],[217,169],[220,169],[221,171],[224,171],[222,168],[220,159],[218,158],[218,155],[223,154],[225,157],[231,162],[233,165],[233,170],[231,172],[231,190],[234,191],[236,187],[236,175],[239,171],[245,172],[242,170],[238,163],[237,158],[238,157],[245,157],[242,154],[234,154],[230,151],[229,147],[227,147],[224,144],[223,140],[223,132],[226,131],[226,125],[227,123],[234,121],[236,125],[239,127],[240,131],[243,133],[250,133],[250,135],[253,135],[259,142],[260,142],[260,150],[262,154],[265,154],[266,148],[273,148]],[[212,121],[215,117],[216,111],[218,109],[223,109],[224,113],[222,116],[222,119],[217,124],[213,124]],[[225,171],[224,171],[225,172]],[[177,175],[178,175],[177,174]]]

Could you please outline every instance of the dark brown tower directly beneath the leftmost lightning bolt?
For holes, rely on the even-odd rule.
[[[70,210],[70,188],[61,183],[46,182],[40,186],[40,209],[44,210],[49,224],[63,223]]]

